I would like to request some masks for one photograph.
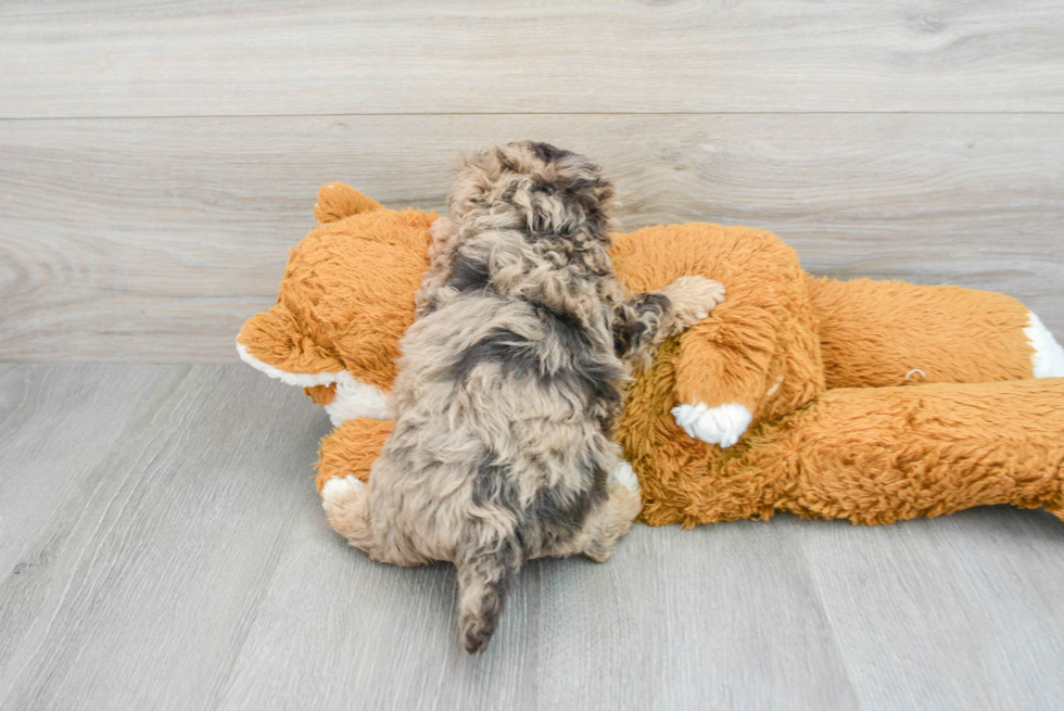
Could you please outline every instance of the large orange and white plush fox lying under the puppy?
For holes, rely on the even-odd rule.
[[[385,210],[340,183],[321,189],[315,213],[277,304],[244,325],[238,350],[306,388],[338,426],[318,464],[329,511],[391,431],[387,392],[436,215]],[[763,230],[687,224],[612,238],[635,292],[684,275],[727,289],[630,388],[616,436],[644,522],[785,510],[888,523],[1005,503],[1064,518],[1064,350],[1019,302],[813,278]]]

